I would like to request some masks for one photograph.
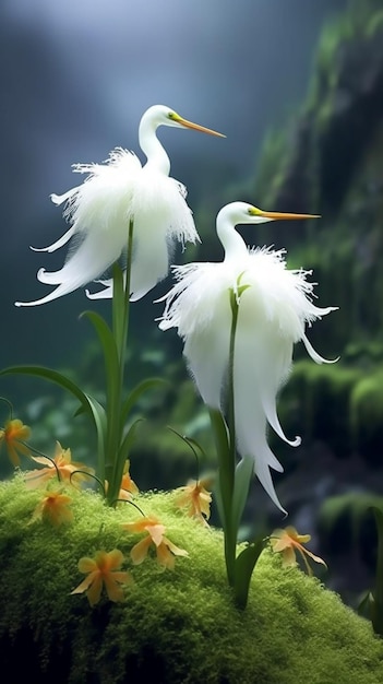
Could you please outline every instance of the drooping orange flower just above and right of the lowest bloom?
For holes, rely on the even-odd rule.
[[[128,532],[147,532],[147,535],[137,542],[130,552],[134,565],[145,561],[152,544],[155,545],[159,565],[171,570],[175,567],[175,556],[189,555],[187,551],[179,549],[164,536],[165,527],[157,518],[140,518],[135,522],[125,522],[122,527]]]

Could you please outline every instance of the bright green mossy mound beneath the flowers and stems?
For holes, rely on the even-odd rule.
[[[22,475],[0,485],[0,644],[12,684],[119,684],[143,681],[220,684],[376,684],[383,681],[383,642],[371,625],[315,578],[283,569],[265,551],[253,575],[249,604],[234,608],[226,585],[223,536],[175,506],[175,495],[135,499],[189,552],[164,570],[154,557],[131,566],[139,541],[121,522],[140,512],[107,508],[98,495],[69,491],[74,522],[31,523],[41,492]],[[103,593],[93,609],[79,558],[118,547],[134,583],[125,601]],[[152,679],[151,679],[152,677]]]

